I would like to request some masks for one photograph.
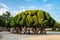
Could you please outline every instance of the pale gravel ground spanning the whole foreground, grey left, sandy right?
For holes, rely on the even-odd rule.
[[[21,35],[0,32],[0,40],[60,40],[60,35]]]

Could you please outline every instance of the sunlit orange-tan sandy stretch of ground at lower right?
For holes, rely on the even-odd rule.
[[[60,40],[60,35],[36,35],[25,37],[22,40]]]

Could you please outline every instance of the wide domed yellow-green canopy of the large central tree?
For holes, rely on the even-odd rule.
[[[19,13],[12,19],[10,26],[40,26],[40,27],[53,27],[55,20],[49,15],[48,12],[43,10],[27,10]],[[11,23],[13,23],[11,25]]]

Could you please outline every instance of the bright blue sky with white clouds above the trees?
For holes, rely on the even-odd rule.
[[[60,0],[0,0],[0,15],[10,11],[13,16],[29,9],[41,9],[60,22]]]

